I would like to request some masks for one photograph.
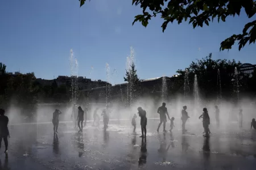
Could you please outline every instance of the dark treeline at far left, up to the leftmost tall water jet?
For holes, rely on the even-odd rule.
[[[15,105],[24,114],[34,111],[36,103],[67,103],[70,98],[70,84],[57,86],[40,84],[34,73],[11,75],[6,72],[6,65],[0,63],[0,107]]]

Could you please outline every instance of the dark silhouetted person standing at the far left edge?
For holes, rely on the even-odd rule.
[[[8,152],[7,136],[10,135],[8,126],[7,126],[8,122],[9,122],[9,118],[5,116],[5,110],[0,109],[0,148],[1,148],[1,143],[3,139],[3,142],[5,142],[5,153]]]

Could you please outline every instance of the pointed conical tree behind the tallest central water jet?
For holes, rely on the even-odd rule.
[[[135,69],[134,62],[131,63],[130,69],[126,70],[126,76],[123,79],[125,79],[125,82],[128,82],[127,84],[127,87],[129,87],[128,95],[131,96],[132,99],[136,99],[139,96],[141,81],[138,78],[137,70]]]

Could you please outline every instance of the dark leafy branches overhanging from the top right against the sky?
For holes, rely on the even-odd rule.
[[[80,7],[86,0],[79,0]],[[142,8],[142,14],[135,16],[134,22],[141,22],[147,27],[149,20],[158,15],[164,20],[162,24],[163,32],[168,23],[175,20],[178,24],[189,21],[193,28],[203,27],[204,24],[217,18],[217,21],[226,21],[228,16],[239,16],[241,10],[245,10],[247,17],[252,18],[256,12],[254,0],[133,0],[132,4]],[[245,24],[242,33],[232,35],[220,44],[220,50],[231,49],[234,43],[238,42],[238,49],[249,42],[256,40],[256,20]]]

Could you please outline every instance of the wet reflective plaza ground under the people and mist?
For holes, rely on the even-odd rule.
[[[71,123],[60,123],[57,135],[52,124],[11,125],[9,153],[3,154],[2,143],[0,169],[256,168],[256,132],[250,127],[211,128],[204,138],[201,124],[188,122],[185,134],[179,125],[173,133],[157,133],[158,122],[148,120],[146,141],[139,138],[139,125],[132,133],[130,121],[110,121],[106,132],[88,122],[82,133]]]

